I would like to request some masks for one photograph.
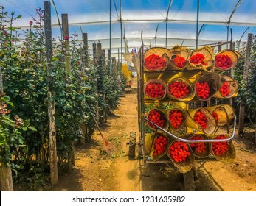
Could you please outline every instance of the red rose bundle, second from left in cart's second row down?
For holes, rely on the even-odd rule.
[[[167,95],[170,99],[190,101],[195,96],[195,90],[188,79],[176,77],[167,84]]]

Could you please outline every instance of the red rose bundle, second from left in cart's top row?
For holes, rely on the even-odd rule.
[[[184,70],[188,64],[190,49],[183,46],[173,46],[170,49],[170,68],[172,70]]]

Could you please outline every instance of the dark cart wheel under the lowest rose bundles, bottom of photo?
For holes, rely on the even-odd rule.
[[[180,174],[179,183],[180,183],[181,191],[195,191],[196,185],[195,185],[194,178],[195,176],[192,170],[186,173]]]

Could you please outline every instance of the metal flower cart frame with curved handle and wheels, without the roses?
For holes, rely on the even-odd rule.
[[[138,124],[139,124],[139,142],[136,142],[136,133],[131,132],[130,134],[130,141],[128,143],[129,145],[129,151],[128,155],[129,157],[134,157],[135,155],[135,147],[139,146],[139,151],[141,152],[141,156],[143,158],[143,163],[146,165],[147,163],[166,163],[169,166],[173,167],[173,164],[171,160],[158,160],[154,162],[149,155],[146,154],[145,152],[145,129],[147,127],[146,123],[153,124],[156,127],[156,131],[160,130],[165,133],[165,135],[169,135],[172,138],[175,138],[177,141],[182,141],[186,143],[198,143],[198,142],[204,142],[204,143],[212,143],[212,142],[223,142],[223,141],[232,141],[232,139],[235,137],[235,128],[236,128],[236,116],[234,115],[234,128],[232,131],[232,135],[230,138],[224,139],[224,140],[215,140],[215,139],[204,139],[204,140],[190,140],[190,139],[184,139],[179,137],[179,135],[174,135],[173,133],[163,129],[162,127],[159,127],[158,125],[154,124],[152,121],[150,121],[146,116],[145,116],[145,104],[162,104],[163,102],[171,102],[170,100],[160,100],[159,102],[154,102],[153,100],[146,100],[144,98],[144,85],[145,85],[145,77],[149,78],[149,75],[154,74],[154,77],[157,78],[166,78],[166,77],[171,77],[172,75],[180,73],[182,77],[192,77],[195,74],[198,74],[198,72],[201,71],[156,71],[156,72],[147,72],[143,70],[143,60],[144,60],[144,46],[143,46],[143,41],[142,41],[142,46],[139,49],[139,55],[137,55],[134,59],[134,65],[136,68],[139,68],[138,70],[138,81],[137,81],[137,99],[138,99]],[[186,107],[188,107],[187,103],[180,103],[180,104],[185,104]],[[188,108],[187,108],[188,109]],[[152,143],[153,144],[153,143]],[[204,165],[207,161],[214,161],[214,157],[207,157],[204,159],[196,159],[197,162],[201,162],[201,166]],[[199,168],[201,167],[199,166]],[[195,180],[197,178],[196,176],[196,166],[194,164],[193,168],[186,172],[186,173],[181,173],[180,175],[180,185],[181,185],[181,190],[182,191],[195,191]]]

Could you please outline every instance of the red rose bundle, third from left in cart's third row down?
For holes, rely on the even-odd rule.
[[[211,135],[216,129],[215,119],[205,108],[187,110],[185,125],[207,135]]]

